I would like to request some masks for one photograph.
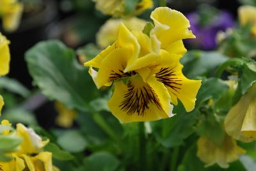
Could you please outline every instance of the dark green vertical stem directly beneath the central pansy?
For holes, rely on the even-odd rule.
[[[146,138],[145,138],[145,126],[143,122],[139,123],[140,133],[140,170],[147,170],[146,168]]]

